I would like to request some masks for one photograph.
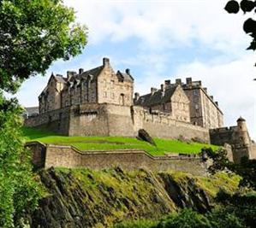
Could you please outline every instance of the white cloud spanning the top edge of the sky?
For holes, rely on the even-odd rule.
[[[189,46],[193,40],[222,51],[242,50],[247,36],[242,22],[247,16],[228,15],[226,1],[83,1],[65,0],[78,20],[89,27],[89,44],[105,39],[121,42],[139,38],[146,49]]]

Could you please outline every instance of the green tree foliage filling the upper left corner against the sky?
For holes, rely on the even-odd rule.
[[[45,73],[52,61],[68,60],[86,45],[86,27],[74,24],[74,9],[62,0],[0,1],[0,88]]]

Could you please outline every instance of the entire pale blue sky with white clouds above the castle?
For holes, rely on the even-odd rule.
[[[253,15],[229,15],[226,0],[64,0],[77,21],[88,28],[80,56],[55,61],[47,74],[28,79],[16,94],[25,107],[38,96],[53,73],[90,69],[110,58],[117,71],[129,68],[134,91],[145,94],[164,79],[201,80],[224,114],[224,125],[242,116],[256,139],[256,53],[242,31]]]

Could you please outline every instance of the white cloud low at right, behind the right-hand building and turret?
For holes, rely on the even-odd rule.
[[[235,61],[226,63],[205,63],[194,61],[177,67],[176,75],[182,79],[193,77],[202,80],[208,93],[214,96],[223,110],[226,126],[234,126],[241,115],[247,119],[247,127],[256,138],[256,69],[255,56],[247,54]]]

